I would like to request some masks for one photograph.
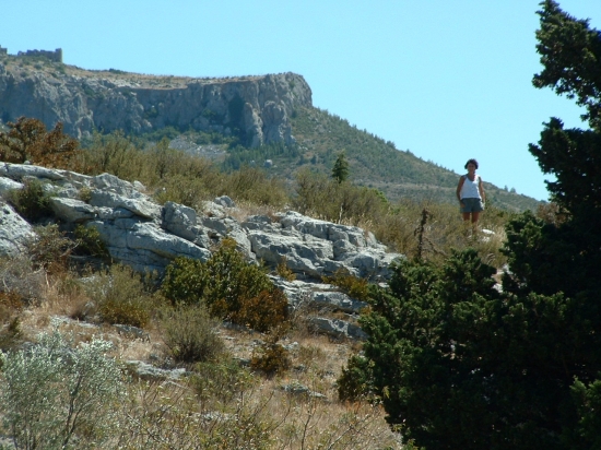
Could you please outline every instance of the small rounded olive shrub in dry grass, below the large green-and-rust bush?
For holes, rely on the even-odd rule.
[[[165,345],[175,360],[185,363],[212,362],[224,355],[217,325],[203,305],[166,309],[161,320]]]

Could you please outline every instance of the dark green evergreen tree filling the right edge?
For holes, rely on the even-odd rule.
[[[552,118],[530,145],[562,216],[509,223],[500,292],[473,250],[403,262],[361,319],[357,386],[428,450],[601,448],[601,34],[541,5],[533,83],[576,98],[588,123]]]

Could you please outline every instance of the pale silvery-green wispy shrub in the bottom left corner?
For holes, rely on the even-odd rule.
[[[3,434],[15,448],[89,448],[115,433],[123,382],[105,356],[110,346],[93,339],[75,347],[55,330],[27,351],[0,353]]]

